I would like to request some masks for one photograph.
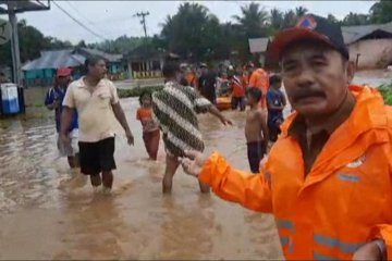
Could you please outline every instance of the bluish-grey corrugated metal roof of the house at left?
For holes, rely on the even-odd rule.
[[[73,49],[42,51],[41,57],[22,66],[22,71],[76,67],[84,64],[85,58],[73,54]]]

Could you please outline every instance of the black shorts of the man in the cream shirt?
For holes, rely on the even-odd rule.
[[[98,175],[115,170],[114,137],[97,142],[78,142],[81,172],[85,175]]]

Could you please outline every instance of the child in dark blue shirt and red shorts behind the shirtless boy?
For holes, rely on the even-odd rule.
[[[286,105],[286,99],[281,90],[282,78],[279,75],[272,75],[269,82],[270,88],[267,92],[268,132],[270,141],[274,142],[281,133],[280,125],[283,122],[283,110]]]

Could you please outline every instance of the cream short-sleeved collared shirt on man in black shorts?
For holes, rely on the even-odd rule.
[[[114,137],[115,119],[112,105],[119,102],[117,88],[109,79],[88,87],[85,77],[71,83],[63,105],[75,108],[79,115],[79,141],[97,142]]]

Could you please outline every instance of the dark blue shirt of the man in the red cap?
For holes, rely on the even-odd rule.
[[[60,102],[60,107],[54,109],[54,119],[56,119],[56,129],[58,133],[60,133],[61,126],[61,113],[62,113],[62,102],[65,97],[65,89],[60,87],[52,87],[48,90],[46,98],[45,98],[45,105],[53,104],[56,100]],[[72,117],[72,123],[70,127],[70,132],[77,128],[77,112],[74,112],[74,115]]]

